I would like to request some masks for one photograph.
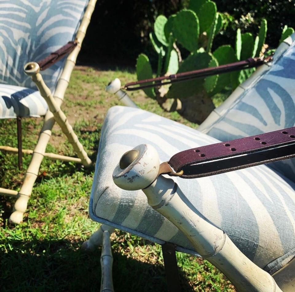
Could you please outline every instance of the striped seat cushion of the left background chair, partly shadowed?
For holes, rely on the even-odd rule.
[[[39,91],[15,85],[0,84],[0,119],[40,118],[48,109]]]

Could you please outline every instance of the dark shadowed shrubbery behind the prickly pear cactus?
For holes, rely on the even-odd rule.
[[[100,0],[79,55],[80,62],[134,67],[136,57],[154,54],[148,34],[159,14],[169,16],[186,7],[188,0]],[[219,12],[228,12],[232,21],[217,37],[213,49],[234,44],[236,29],[257,34],[260,20],[268,22],[266,43],[276,48],[284,25],[295,27],[294,0],[215,0]]]

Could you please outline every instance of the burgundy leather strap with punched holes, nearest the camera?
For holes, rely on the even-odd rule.
[[[295,157],[295,127],[193,148],[168,164],[181,177],[196,178]]]

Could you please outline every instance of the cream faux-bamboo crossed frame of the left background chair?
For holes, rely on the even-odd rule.
[[[51,93],[50,89],[44,83],[42,76],[39,73],[40,68],[37,63],[29,62],[24,67],[26,74],[32,77],[32,80],[37,85],[37,88],[39,89],[41,96],[46,100],[49,110],[45,115],[44,124],[39,134],[39,138],[37,141],[37,145],[35,146],[35,149],[33,151],[26,149],[22,150],[22,153],[24,154],[32,154],[32,159],[26,171],[24,182],[22,184],[21,189],[19,190],[19,192],[17,192],[9,189],[0,188],[1,195],[15,196],[17,198],[14,204],[14,212],[10,216],[10,221],[13,223],[20,223],[23,220],[23,215],[26,212],[28,201],[32,193],[33,185],[36,181],[38,171],[40,169],[40,165],[44,157],[48,157],[50,159],[60,159],[64,161],[80,162],[85,166],[89,166],[91,164],[91,160],[87,156],[83,146],[78,140],[77,135],[73,132],[73,128],[69,124],[65,114],[61,111],[60,107],[64,99],[65,91],[69,85],[70,76],[73,71],[73,68],[75,67],[77,56],[80,52],[81,44],[85,37],[86,29],[89,25],[96,1],[97,0],[89,0],[89,3],[85,10],[85,14],[81,20],[81,24],[76,34],[75,41],[77,42],[77,46],[69,54],[65,61],[65,65],[61,73],[61,76],[57,82],[54,95]],[[66,135],[69,142],[73,145],[73,148],[77,153],[78,158],[57,155],[53,153],[45,153],[46,146],[51,137],[52,128],[55,122],[59,124],[61,130]],[[8,151],[11,153],[18,152],[17,148],[7,146],[4,146],[4,148],[2,147],[0,151],[1,150]]]

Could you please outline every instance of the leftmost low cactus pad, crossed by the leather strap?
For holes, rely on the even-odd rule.
[[[148,60],[148,57],[145,54],[140,54],[136,62],[136,74],[137,80],[144,80],[153,78],[151,64]],[[155,89],[154,88],[145,88],[143,89],[146,95],[151,98],[155,98]]]

